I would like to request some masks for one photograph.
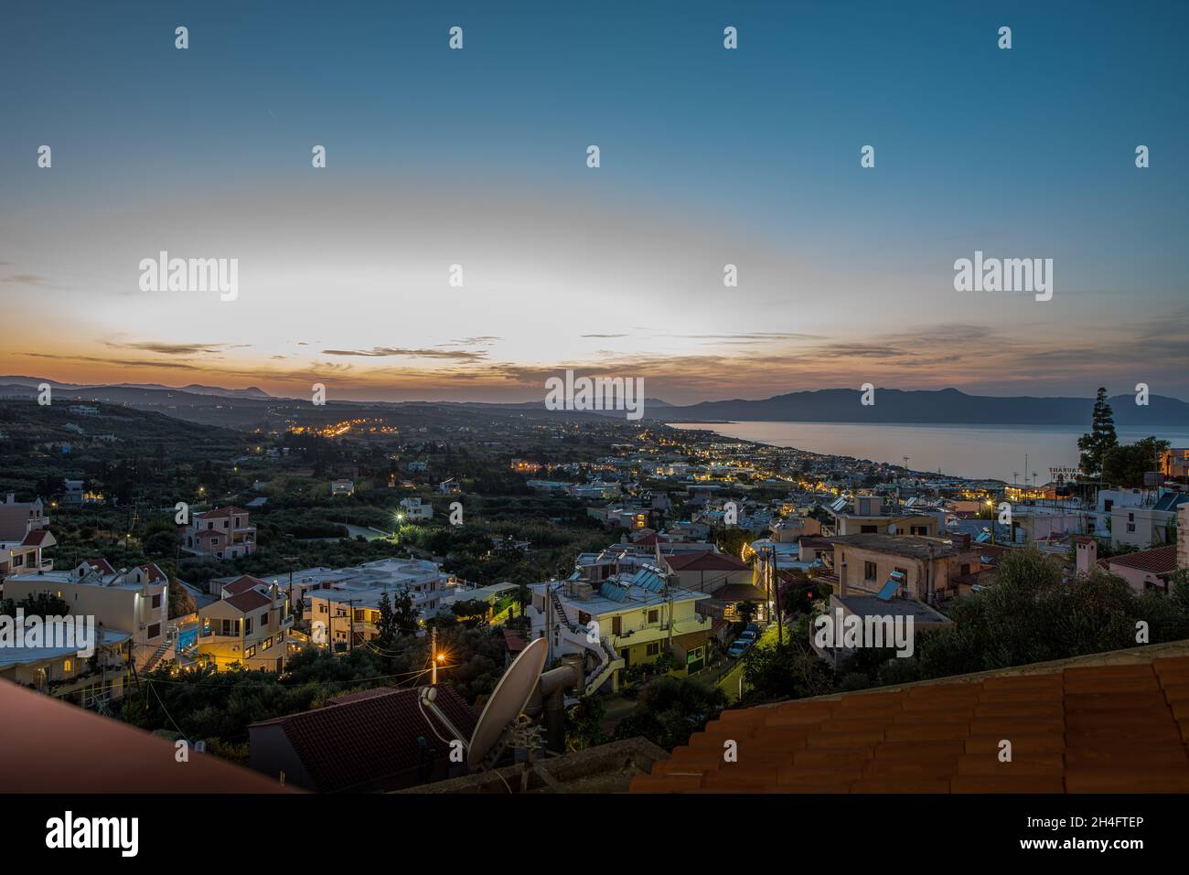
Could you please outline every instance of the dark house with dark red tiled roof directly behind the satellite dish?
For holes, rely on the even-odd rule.
[[[478,715],[446,684],[438,686],[435,705],[451,725],[423,709],[420,697],[419,687],[364,690],[252,723],[249,764],[319,793],[395,791],[464,774],[455,742],[470,742]]]

